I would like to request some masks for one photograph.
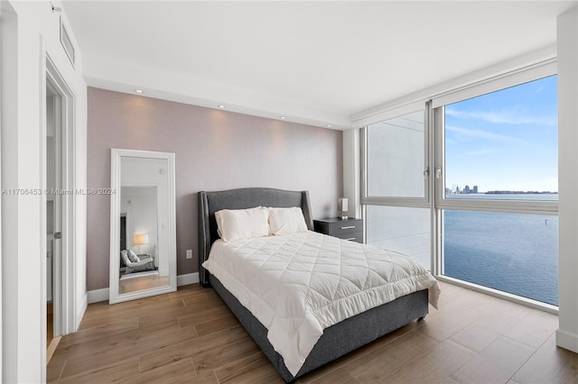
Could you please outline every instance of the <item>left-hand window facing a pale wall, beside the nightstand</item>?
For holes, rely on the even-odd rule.
[[[424,110],[369,125],[364,133],[366,242],[431,269]]]

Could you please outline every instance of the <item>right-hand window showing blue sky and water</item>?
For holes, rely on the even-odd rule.
[[[442,274],[558,304],[556,77],[434,110]]]

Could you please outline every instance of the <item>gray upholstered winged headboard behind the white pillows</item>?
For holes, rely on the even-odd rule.
[[[303,210],[305,223],[313,230],[311,203],[307,191],[286,191],[274,188],[241,188],[227,191],[199,192],[199,279],[203,286],[209,285],[207,271],[201,267],[209,258],[210,245],[217,239],[215,212],[221,209],[246,209],[255,206],[291,207]]]

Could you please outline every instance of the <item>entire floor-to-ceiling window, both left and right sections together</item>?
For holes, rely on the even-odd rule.
[[[368,125],[367,242],[445,279],[557,306],[556,96],[546,63]]]

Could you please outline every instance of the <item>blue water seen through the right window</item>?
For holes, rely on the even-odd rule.
[[[444,210],[443,258],[446,276],[558,305],[557,216]]]

